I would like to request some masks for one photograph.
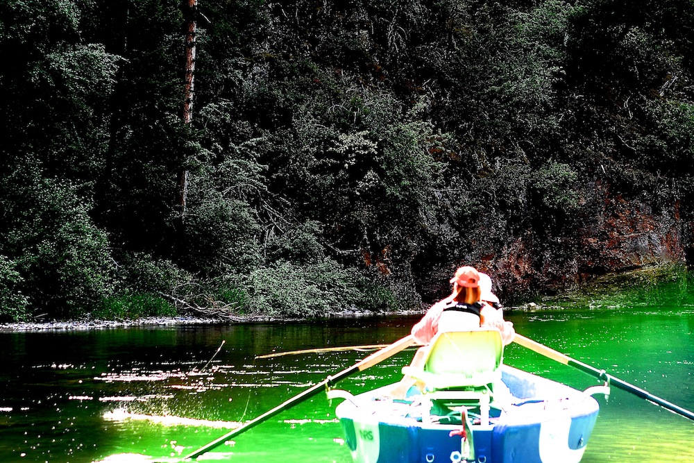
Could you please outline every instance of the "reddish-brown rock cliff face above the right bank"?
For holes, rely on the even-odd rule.
[[[505,300],[575,289],[595,276],[657,264],[686,263],[691,224],[680,202],[654,208],[595,183],[563,233],[539,226],[482,259]]]

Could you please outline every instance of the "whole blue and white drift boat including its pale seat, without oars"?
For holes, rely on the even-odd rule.
[[[502,364],[496,330],[439,332],[405,400],[394,385],[364,394],[337,389],[336,414],[355,463],[574,463],[598,418],[593,394]]]

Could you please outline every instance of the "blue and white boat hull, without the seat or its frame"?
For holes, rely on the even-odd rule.
[[[467,460],[459,423],[428,423],[411,401],[384,400],[376,389],[337,406],[355,463],[577,463],[586,450],[598,418],[591,396],[602,388],[578,391],[518,369],[502,367],[502,382],[511,396],[493,402],[490,423],[474,424],[474,459]]]

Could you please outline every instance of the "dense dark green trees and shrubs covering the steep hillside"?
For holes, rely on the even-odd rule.
[[[693,56],[692,0],[3,0],[0,318],[392,310],[594,183],[691,216]]]

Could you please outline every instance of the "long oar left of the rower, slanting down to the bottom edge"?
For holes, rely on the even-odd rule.
[[[230,439],[231,437],[235,437],[235,436],[241,434],[242,432],[253,428],[253,426],[262,423],[266,419],[269,419],[269,418],[275,416],[279,412],[282,412],[283,410],[287,410],[289,407],[292,407],[293,405],[296,405],[297,403],[318,394],[323,389],[325,389],[326,386],[328,386],[334,382],[337,382],[341,379],[344,379],[347,376],[350,376],[352,373],[356,373],[357,371],[364,371],[365,369],[367,369],[369,367],[373,367],[373,365],[378,364],[378,363],[382,362],[383,360],[386,360],[387,358],[392,357],[393,355],[396,355],[396,353],[403,351],[405,348],[411,346],[412,344],[414,344],[414,339],[412,339],[412,335],[405,336],[405,337],[403,337],[403,339],[400,339],[396,342],[393,342],[393,344],[390,344],[389,346],[382,348],[380,351],[376,351],[373,354],[369,355],[369,357],[364,358],[364,360],[362,360],[361,362],[358,362],[358,363],[352,365],[351,367],[346,368],[346,369],[340,371],[339,373],[337,373],[333,376],[328,376],[328,378],[325,378],[324,380],[322,380],[318,384],[310,387],[309,389],[306,389],[304,392],[301,392],[301,394],[297,394],[296,396],[290,398],[289,400],[278,405],[277,407],[274,407],[272,410],[265,412],[264,414],[258,416],[255,419],[252,419],[251,421],[248,421],[248,423],[244,423],[242,426],[239,426],[235,430],[228,432],[227,434],[223,435],[222,437],[214,439],[214,441],[210,442],[210,444],[206,444],[206,445],[202,446],[201,448],[198,448],[198,450],[190,453],[189,455],[186,455],[184,457],[184,460],[199,457],[203,453],[212,450],[212,448],[219,446],[227,439]]]

